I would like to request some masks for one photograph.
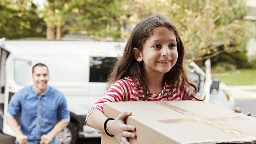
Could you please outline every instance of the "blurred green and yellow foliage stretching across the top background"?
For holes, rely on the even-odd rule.
[[[37,10],[32,0],[0,0],[0,37],[41,35],[45,25],[63,33],[83,30],[96,40],[126,41],[140,20],[162,14],[176,24],[185,49],[202,57],[223,47],[245,51],[253,35],[244,20],[245,0],[48,0]],[[110,38],[111,37],[111,38]],[[106,39],[104,39],[106,38]]]

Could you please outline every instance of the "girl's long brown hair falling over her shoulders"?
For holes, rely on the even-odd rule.
[[[173,30],[174,34],[176,35],[177,41],[177,62],[169,72],[165,73],[164,76],[166,82],[173,85],[168,92],[168,96],[172,95],[178,90],[178,88],[176,88],[176,91],[172,93],[172,91],[174,90],[174,84],[178,84],[180,82],[182,83],[182,90],[184,90],[185,92],[186,99],[189,99],[192,96],[197,100],[201,100],[195,97],[195,94],[198,91],[197,87],[194,83],[188,80],[187,74],[183,68],[185,50],[183,43],[180,39],[180,35],[178,34],[178,30],[176,26],[174,26],[172,21],[159,14],[147,17],[146,19],[139,22],[132,30],[127,45],[125,46],[123,57],[121,57],[120,60],[116,62],[112,73],[109,75],[108,88],[117,80],[124,79],[124,77],[129,76],[133,80],[138,80],[145,96],[143,100],[145,101],[148,98],[149,89],[144,81],[144,62],[137,61],[133,56],[132,50],[133,48],[137,48],[139,51],[141,51],[144,43],[153,34],[153,30],[157,27],[167,27],[169,30]],[[191,96],[189,96],[189,94],[185,90],[185,86],[193,88]]]

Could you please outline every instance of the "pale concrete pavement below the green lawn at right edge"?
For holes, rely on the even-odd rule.
[[[256,86],[227,86],[234,99],[256,99]]]

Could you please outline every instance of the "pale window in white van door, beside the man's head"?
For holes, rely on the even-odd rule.
[[[14,62],[14,80],[16,83],[28,86],[30,79],[30,64],[25,60],[15,60]]]

